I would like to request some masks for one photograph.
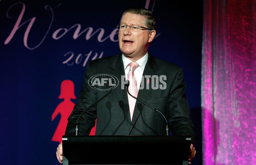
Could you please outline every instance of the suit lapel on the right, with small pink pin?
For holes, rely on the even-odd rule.
[[[138,96],[137,98],[140,99],[143,102],[146,102],[148,99],[148,95],[150,95],[151,93],[151,76],[155,75],[155,70],[157,70],[157,65],[154,61],[154,57],[151,56],[151,54],[149,54],[148,56],[148,61],[145,65],[145,69],[143,72],[143,77],[141,80],[141,87],[143,87],[143,89],[140,89],[138,92]],[[144,86],[142,86],[142,84],[144,84]],[[133,118],[131,121],[131,130],[133,129],[135,123],[137,122],[138,117],[140,116],[141,111],[143,110],[144,107],[144,103],[141,103],[140,101],[136,101],[135,104],[135,108],[134,108],[134,114],[133,114]],[[131,130],[130,133],[131,134]]]

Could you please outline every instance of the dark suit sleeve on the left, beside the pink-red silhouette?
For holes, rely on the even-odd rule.
[[[75,135],[75,126],[79,115],[84,112],[87,107],[92,105],[97,101],[97,90],[92,89],[88,80],[93,76],[93,68],[90,62],[87,64],[87,69],[85,71],[82,83],[82,89],[79,95],[79,100],[74,106],[73,111],[68,118],[67,128],[65,131],[65,136]],[[79,135],[89,135],[90,130],[95,126],[96,120],[96,105],[87,110],[79,119]]]

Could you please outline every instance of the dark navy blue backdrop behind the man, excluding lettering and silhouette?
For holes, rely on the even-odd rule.
[[[35,17],[27,41],[33,50],[26,48],[23,42],[29,22],[24,23],[5,44],[23,7],[21,3],[15,4],[17,2],[25,6],[21,24]],[[197,138],[195,146],[198,153],[193,164],[200,165],[203,2],[148,2],[148,9],[153,10],[157,19],[158,34],[149,51],[184,69],[186,95]],[[126,8],[145,7],[145,3],[146,0],[0,1],[0,159],[3,161],[0,164],[58,165],[55,156],[58,142],[51,139],[61,116],[52,121],[51,115],[63,101],[58,99],[61,82],[66,79],[73,81],[78,98],[86,70],[86,65],[83,66],[86,54],[92,51],[89,62],[96,53],[98,58],[102,52],[103,57],[120,52],[118,42],[109,38],[99,42],[99,33],[88,40],[85,38],[87,31],[73,39],[76,28],[60,39],[53,39],[52,34],[59,28],[69,29],[80,24],[81,31],[88,27],[92,27],[93,32],[103,28],[105,38],[116,28]],[[46,5],[53,8],[53,15],[45,9]],[[8,9],[9,17],[6,16]],[[117,40],[118,35],[114,39]],[[70,57],[70,54],[64,56],[68,52],[73,52],[74,56],[68,64],[63,64]],[[76,59],[81,61],[76,62]],[[76,103],[77,99],[72,101]]]

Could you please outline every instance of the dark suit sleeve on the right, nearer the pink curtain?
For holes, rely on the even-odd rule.
[[[191,136],[195,141],[194,125],[190,119],[189,103],[185,95],[183,69],[179,69],[169,92],[169,124],[175,136]]]

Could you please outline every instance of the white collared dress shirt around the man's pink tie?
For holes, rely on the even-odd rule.
[[[130,68],[130,66],[128,64],[130,64],[132,61],[130,59],[128,59],[127,57],[125,57],[123,54],[122,54],[122,61],[124,63],[124,68],[125,68],[125,80],[127,80],[127,75],[128,75],[129,68]],[[141,82],[141,78],[142,78],[143,71],[145,69],[145,65],[146,65],[147,61],[148,61],[148,52],[145,54],[145,56],[143,56],[136,62],[137,64],[139,64],[139,66],[134,70],[134,76],[137,81],[138,90],[140,89],[140,82]]]

